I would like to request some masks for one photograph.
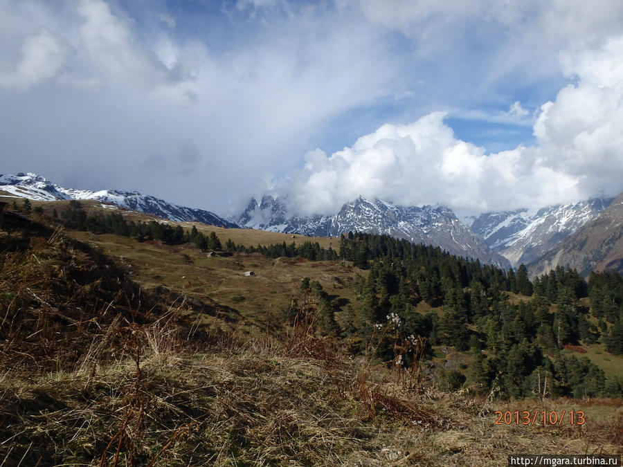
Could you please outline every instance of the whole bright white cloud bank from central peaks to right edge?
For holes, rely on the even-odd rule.
[[[431,113],[410,125],[383,125],[331,156],[308,154],[282,190],[305,214],[334,212],[358,194],[461,212],[616,196],[623,190],[622,56],[623,35],[563,55],[578,82],[541,106],[535,147],[487,154],[456,138],[444,113]],[[528,114],[519,101],[509,107],[509,116]]]

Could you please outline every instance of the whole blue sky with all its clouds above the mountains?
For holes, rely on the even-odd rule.
[[[608,0],[0,0],[0,170],[221,213],[614,196],[622,32]]]

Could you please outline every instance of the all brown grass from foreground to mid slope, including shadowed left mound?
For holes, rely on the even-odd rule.
[[[192,250],[93,236],[123,257],[118,264],[48,233],[16,237],[2,256],[0,466],[504,466],[510,453],[623,450],[620,401],[447,394],[434,378],[413,383],[397,358],[352,356],[318,336],[313,302],[288,332],[260,315],[249,336],[242,320],[252,307],[237,315],[192,283],[210,278],[223,297],[249,290],[277,302],[308,275],[348,297],[343,266],[244,255],[215,264]],[[248,262],[257,282],[225,277]],[[156,264],[169,282],[147,293],[132,278],[146,281]],[[190,281],[175,282],[180,272]],[[258,306],[251,293],[240,303]],[[395,342],[394,351],[408,349]],[[584,410],[586,424],[494,423],[496,410],[537,409]]]

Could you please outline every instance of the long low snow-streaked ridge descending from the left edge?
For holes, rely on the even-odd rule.
[[[171,219],[172,221],[197,221],[212,226],[237,227],[237,225],[214,212],[195,208],[186,208],[169,203],[154,196],[138,192],[119,190],[73,190],[55,185],[37,174],[0,175],[0,190],[39,201],[57,201],[62,199],[93,199],[102,203],[110,203],[130,210],[145,212]]]

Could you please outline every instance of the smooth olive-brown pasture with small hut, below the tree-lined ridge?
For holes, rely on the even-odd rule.
[[[365,275],[365,271],[334,262],[270,259],[246,253],[207,257],[188,246],[139,244],[126,237],[88,232],[69,232],[69,235],[120,258],[134,280],[147,290],[164,285],[197,300],[212,299],[237,309],[245,320],[262,328],[267,311],[278,316],[291,298],[298,296],[303,277],[317,280],[329,295],[345,302],[354,300],[348,286],[354,275]],[[255,276],[244,276],[250,270]]]

